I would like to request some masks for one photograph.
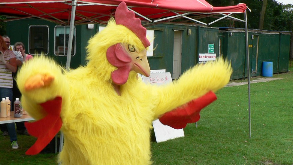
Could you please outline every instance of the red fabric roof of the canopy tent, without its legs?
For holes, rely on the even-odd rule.
[[[71,14],[74,14],[74,24],[105,23],[120,2],[122,0],[2,0],[0,14],[22,18],[37,17],[62,25],[69,25]],[[246,10],[245,4],[213,7],[205,0],[127,0],[125,2],[128,8],[135,11],[143,21],[150,23],[194,14],[207,17],[220,13],[245,13]],[[75,8],[74,13],[73,8]]]

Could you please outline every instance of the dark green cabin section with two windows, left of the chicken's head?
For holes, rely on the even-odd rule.
[[[87,25],[75,26],[71,68],[85,64],[87,41],[96,32],[97,28],[91,29]],[[66,66],[69,26],[60,26],[45,20],[15,20],[7,22],[7,35],[11,45],[23,42],[27,54],[33,56],[44,54]]]

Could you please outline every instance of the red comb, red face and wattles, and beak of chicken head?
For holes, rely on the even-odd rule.
[[[144,47],[150,46],[146,38],[146,28],[141,26],[140,19],[135,18],[134,12],[127,9],[126,3],[121,2],[115,12],[116,25],[123,25],[140,39]],[[111,73],[113,82],[123,85],[130,71],[135,71],[146,77],[150,76],[150,66],[146,58],[146,49],[138,51],[134,45],[115,44],[107,49],[107,60],[118,69]]]

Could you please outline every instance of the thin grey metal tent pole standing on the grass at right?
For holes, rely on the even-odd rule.
[[[245,22],[245,43],[246,43],[246,63],[247,63],[247,89],[248,89],[248,118],[249,118],[249,138],[251,138],[251,116],[250,116],[250,69],[249,69],[249,51],[248,51],[248,28],[247,28],[247,14],[244,13]]]

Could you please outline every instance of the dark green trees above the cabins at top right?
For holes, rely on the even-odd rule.
[[[231,0],[207,0],[213,6],[228,6]],[[247,20],[249,29],[258,29],[259,17],[262,7],[261,0],[232,0],[234,5],[238,3],[245,3],[251,11],[247,11]],[[284,5],[276,0],[267,0],[267,8],[264,16],[264,30],[276,30],[276,31],[292,31],[290,29],[293,22],[293,9],[292,5]],[[234,17],[243,18],[243,14],[235,14]],[[207,18],[208,20],[210,18]],[[213,27],[228,27],[227,20],[214,23]],[[235,28],[244,28],[242,22],[235,22]]]

